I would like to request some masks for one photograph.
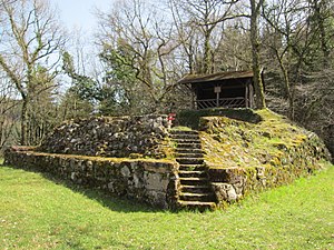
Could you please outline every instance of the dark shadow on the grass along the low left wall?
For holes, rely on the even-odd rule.
[[[140,201],[130,200],[128,198],[120,198],[117,197],[116,194],[107,193],[106,191],[102,191],[100,189],[88,188],[85,186],[76,184],[70,180],[60,179],[57,176],[52,176],[51,173],[47,173],[47,172],[41,172],[38,169],[31,169],[31,168],[22,169],[16,166],[3,164],[2,162],[0,162],[0,167],[7,167],[11,169],[41,174],[43,178],[52,181],[53,183],[63,186],[65,188],[70,189],[76,193],[80,193],[87,197],[88,199],[95,200],[99,202],[102,207],[108,208],[112,211],[117,211],[117,212],[164,212],[165,211],[163,209],[151,208],[148,204]]]

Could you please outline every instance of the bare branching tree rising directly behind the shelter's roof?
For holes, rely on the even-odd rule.
[[[189,63],[190,73],[193,72],[191,63],[196,63],[196,59],[202,61],[202,67],[197,68],[196,73],[214,72],[214,51],[218,46],[222,32],[218,28],[222,28],[225,21],[238,17],[233,9],[238,0],[170,0],[169,2],[174,13],[174,21],[178,27],[178,34],[186,52],[188,54],[194,53],[195,47],[199,47],[203,50],[202,58],[196,58],[193,54],[195,57],[193,59],[190,54],[188,56],[191,60]],[[191,29],[187,34],[186,31],[189,28]],[[200,38],[198,34],[200,34]],[[202,42],[199,43],[198,40]],[[196,41],[195,44],[194,41]]]

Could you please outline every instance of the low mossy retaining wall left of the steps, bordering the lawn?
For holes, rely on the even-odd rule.
[[[167,209],[176,202],[176,163],[164,160],[131,160],[42,153],[13,147],[6,163],[33,169],[106,192]]]

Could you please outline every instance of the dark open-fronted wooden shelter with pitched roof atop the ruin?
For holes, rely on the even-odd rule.
[[[179,80],[193,94],[193,108],[254,108],[253,71],[188,74]]]

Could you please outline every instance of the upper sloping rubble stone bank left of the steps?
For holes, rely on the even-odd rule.
[[[165,158],[167,116],[99,117],[66,121],[38,151],[101,157]]]

